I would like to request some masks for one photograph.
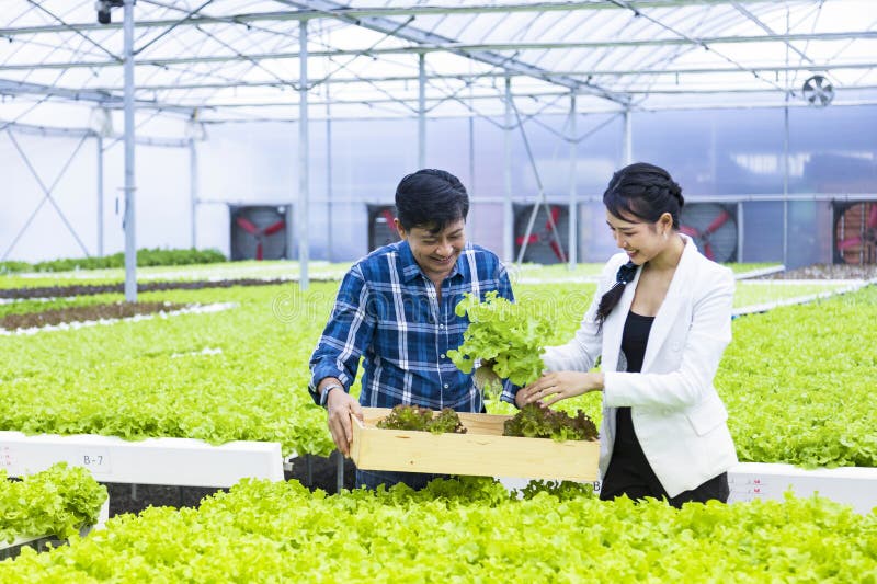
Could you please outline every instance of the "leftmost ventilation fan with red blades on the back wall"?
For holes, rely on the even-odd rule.
[[[286,207],[230,206],[231,259],[286,257]]]

